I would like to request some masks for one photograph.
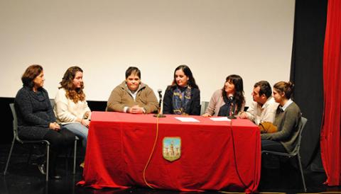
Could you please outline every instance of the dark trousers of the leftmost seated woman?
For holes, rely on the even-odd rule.
[[[75,134],[65,128],[62,128],[59,131],[49,130],[43,139],[50,142],[49,173],[53,176],[55,174],[55,165],[58,155],[75,143]]]

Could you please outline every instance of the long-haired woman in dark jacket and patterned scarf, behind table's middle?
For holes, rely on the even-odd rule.
[[[174,79],[163,99],[163,113],[200,115],[200,90],[190,68],[183,64],[174,71]]]

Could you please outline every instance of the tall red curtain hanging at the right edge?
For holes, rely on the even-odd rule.
[[[341,173],[341,1],[329,0],[323,53],[325,109],[321,129],[321,156],[328,186],[340,186]]]

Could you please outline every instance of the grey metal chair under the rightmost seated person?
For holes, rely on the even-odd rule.
[[[301,177],[302,177],[302,182],[303,182],[303,188],[304,188],[304,192],[307,191],[307,188],[305,186],[305,179],[304,179],[304,174],[303,174],[303,168],[302,168],[302,164],[301,164],[301,155],[300,155],[300,147],[301,147],[301,139],[302,139],[302,132],[305,126],[305,123],[307,123],[307,119],[306,118],[301,118],[301,122],[299,125],[299,132],[298,132],[298,139],[297,139],[297,144],[296,147],[293,149],[293,152],[291,153],[283,153],[283,152],[272,152],[272,151],[261,151],[261,154],[274,154],[274,155],[278,155],[278,156],[287,156],[288,158],[297,156],[297,161],[298,161],[298,166],[300,168],[301,171]]]

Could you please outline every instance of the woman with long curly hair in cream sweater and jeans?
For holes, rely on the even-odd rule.
[[[58,122],[80,137],[86,147],[91,110],[83,89],[83,70],[77,66],[67,69],[60,81],[53,110]]]

